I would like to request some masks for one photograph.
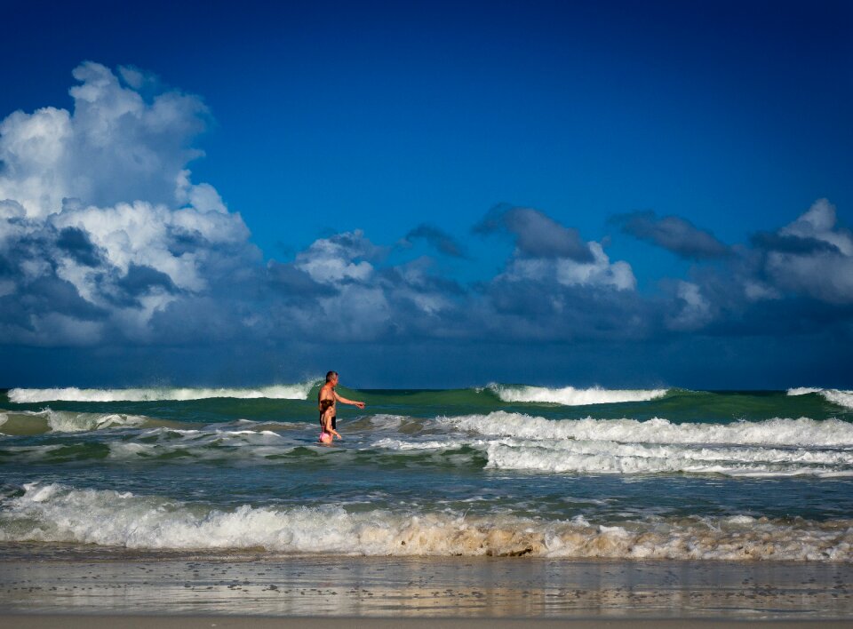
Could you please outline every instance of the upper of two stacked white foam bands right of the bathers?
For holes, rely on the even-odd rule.
[[[767,419],[731,424],[673,424],[666,419],[546,419],[498,410],[488,415],[438,418],[476,434],[534,440],[623,443],[708,443],[792,447],[853,447],[853,424],[839,419]]]

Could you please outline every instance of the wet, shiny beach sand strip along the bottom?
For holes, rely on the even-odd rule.
[[[566,618],[585,623],[576,626],[685,626],[688,620],[849,626],[853,619],[853,566],[844,563],[194,558],[39,545],[26,557],[20,545],[5,551],[0,548],[4,626],[97,627],[115,624],[109,620],[115,615],[125,626],[224,627],[246,625],[251,617],[251,626],[318,629],[427,623],[437,629],[463,620],[515,627],[534,619],[546,627],[562,626]],[[87,620],[92,615],[94,625]]]

